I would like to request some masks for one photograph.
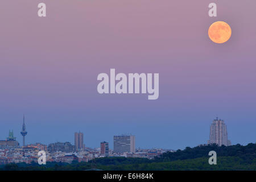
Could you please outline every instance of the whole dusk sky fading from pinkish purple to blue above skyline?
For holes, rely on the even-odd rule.
[[[47,17],[37,16],[45,2]],[[217,17],[208,16],[210,2]],[[136,135],[136,147],[184,148],[207,142],[218,116],[233,144],[256,138],[256,2],[29,1],[0,2],[0,139],[70,141],[88,147],[113,135]],[[232,28],[210,42],[210,24]],[[159,98],[97,93],[97,75],[159,73]]]

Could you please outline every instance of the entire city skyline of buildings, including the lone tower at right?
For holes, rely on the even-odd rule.
[[[56,142],[47,145],[41,143],[27,144],[25,137],[27,135],[26,125],[23,116],[23,126],[20,134],[23,137],[23,146],[19,146],[14,137],[13,131],[9,131],[9,137],[6,140],[0,140],[0,165],[6,163],[32,163],[38,162],[38,152],[46,151],[47,162],[88,162],[94,158],[124,156],[127,158],[147,158],[154,159],[164,152],[172,150],[163,149],[135,149],[134,135],[117,135],[113,138],[113,150],[109,148],[108,142],[101,142],[99,148],[88,148],[84,144],[84,134],[75,133],[75,145],[70,142]],[[226,125],[221,119],[214,119],[210,125],[210,138],[208,144],[216,143],[219,146],[229,146],[228,133]]]

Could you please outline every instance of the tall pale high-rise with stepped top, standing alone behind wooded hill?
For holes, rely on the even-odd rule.
[[[228,140],[228,131],[222,119],[214,119],[210,125],[210,139],[208,144],[216,143],[218,146],[230,146],[231,142]]]

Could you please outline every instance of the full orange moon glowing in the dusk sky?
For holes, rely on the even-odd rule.
[[[217,44],[225,43],[229,40],[232,30],[226,22],[214,22],[210,25],[208,35],[212,42]]]

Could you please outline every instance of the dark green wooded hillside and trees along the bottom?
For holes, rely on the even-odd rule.
[[[209,151],[217,152],[217,165],[209,165]],[[208,145],[164,153],[153,160],[142,158],[98,158],[96,164],[88,163],[47,163],[45,166],[32,164],[6,164],[0,170],[256,170],[256,143],[247,146]]]

